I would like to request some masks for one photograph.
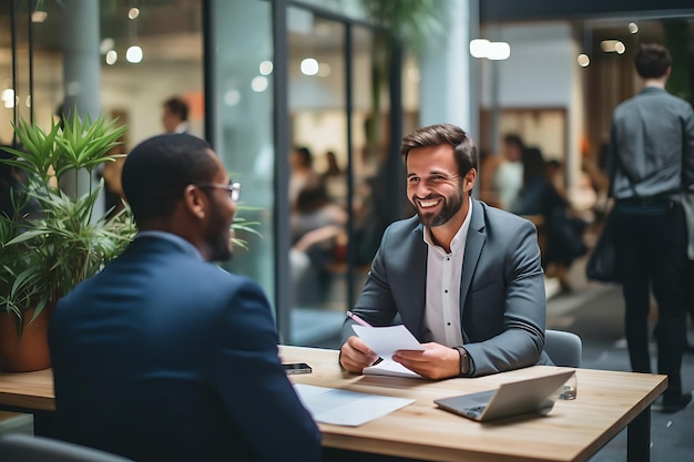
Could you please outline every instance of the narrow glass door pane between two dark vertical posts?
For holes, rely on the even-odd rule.
[[[316,345],[347,309],[347,25],[288,8],[287,29],[290,340]]]

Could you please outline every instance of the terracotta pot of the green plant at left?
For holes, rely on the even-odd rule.
[[[0,370],[30,372],[51,366],[48,348],[49,310],[44,309],[33,322],[28,322],[32,317],[33,309],[24,314],[27,322],[18,343],[14,315],[0,314]]]

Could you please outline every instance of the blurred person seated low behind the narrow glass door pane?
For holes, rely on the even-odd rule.
[[[289,261],[296,302],[320,299],[325,278],[345,247],[347,213],[328,198],[323,182],[304,187],[290,217],[292,249]]]

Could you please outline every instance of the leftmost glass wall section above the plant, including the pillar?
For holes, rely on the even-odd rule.
[[[203,134],[200,0],[176,2],[173,9],[154,0],[142,0],[137,8],[98,2],[94,9],[91,0],[14,1],[3,2],[1,8],[0,83],[4,97],[0,142],[11,143],[10,122],[16,115],[33,117],[48,129],[59,113],[72,113],[78,104],[89,106],[78,111],[82,115],[103,113],[129,125],[119,147],[126,153],[145,137],[163,132],[162,103],[173,95],[188,104],[191,133]],[[84,47],[85,37],[96,37],[98,43],[90,41],[90,47]],[[99,61],[84,61],[89,60],[85,48],[91,51],[96,45],[94,58]],[[122,160],[106,164],[102,172],[106,207],[121,205],[121,166]]]

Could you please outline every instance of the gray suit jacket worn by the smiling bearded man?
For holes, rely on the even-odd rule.
[[[425,325],[427,244],[415,216],[384,233],[369,278],[353,312],[374,326],[399,315],[420,342]],[[535,227],[517,215],[472,199],[460,283],[460,319],[470,377],[551,365],[544,348],[547,299]],[[341,342],[355,335],[345,321]]]

